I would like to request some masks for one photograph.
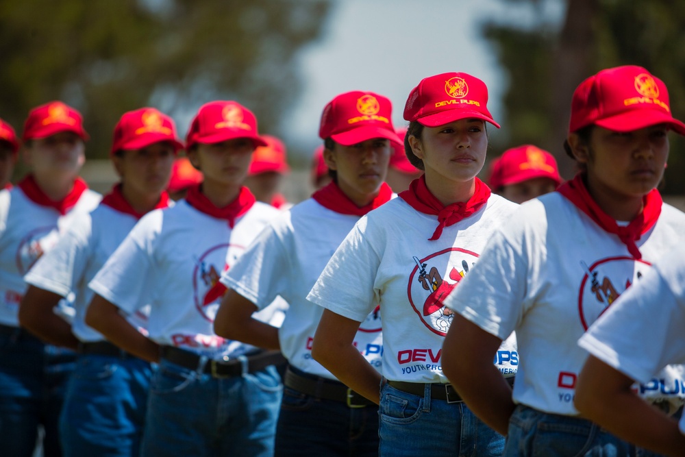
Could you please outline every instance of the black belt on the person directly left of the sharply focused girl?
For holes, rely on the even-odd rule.
[[[349,408],[375,406],[375,403],[371,402],[370,399],[356,393],[342,382],[321,378],[321,376],[299,375],[293,372],[290,367],[286,369],[283,384],[316,399],[332,400],[347,404]]]

